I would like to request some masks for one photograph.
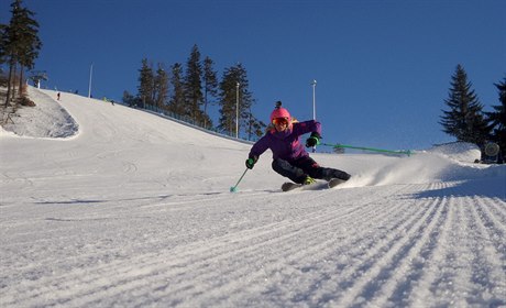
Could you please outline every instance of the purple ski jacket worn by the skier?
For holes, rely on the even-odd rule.
[[[272,129],[253,144],[249,157],[260,157],[267,148],[273,152],[273,160],[280,158],[290,162],[308,156],[309,154],[304,144],[300,143],[299,138],[310,132],[317,132],[321,135],[320,122],[310,120],[293,123],[292,128],[284,132]]]

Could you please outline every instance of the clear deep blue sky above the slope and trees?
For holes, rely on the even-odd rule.
[[[0,2],[0,22],[11,1]],[[503,0],[24,0],[36,13],[44,87],[95,97],[136,94],[141,59],[186,63],[197,44],[223,69],[242,63],[254,113],[274,102],[317,119],[323,141],[427,148],[453,141],[438,123],[462,64],[485,111],[506,76]],[[218,107],[211,107],[216,113]],[[213,120],[217,120],[215,118]]]

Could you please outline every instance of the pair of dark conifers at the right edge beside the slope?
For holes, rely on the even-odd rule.
[[[457,141],[474,143],[482,148],[488,142],[495,142],[501,148],[499,157],[506,156],[506,77],[494,84],[498,91],[499,103],[492,106],[494,111],[483,111],[483,105],[462,65],[458,65],[451,77],[449,97],[442,110],[440,124],[443,132],[457,138]]]

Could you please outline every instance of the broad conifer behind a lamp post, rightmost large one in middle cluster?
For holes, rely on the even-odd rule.
[[[244,128],[248,123],[251,114],[251,107],[255,102],[249,90],[246,69],[241,64],[227,68],[221,78],[219,88],[219,103],[221,109],[218,129],[230,135],[239,135],[241,128]],[[237,108],[238,91],[239,110]],[[239,119],[237,117],[238,113]],[[237,121],[239,121],[239,123]],[[235,131],[237,127],[239,131]]]

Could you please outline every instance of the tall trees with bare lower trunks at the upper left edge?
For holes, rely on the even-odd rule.
[[[11,3],[11,20],[9,24],[0,24],[0,65],[8,64],[6,106],[23,96],[23,74],[32,69],[42,42],[38,38],[38,23],[34,13],[22,6],[22,0]],[[15,90],[15,76],[19,69],[19,87]]]

